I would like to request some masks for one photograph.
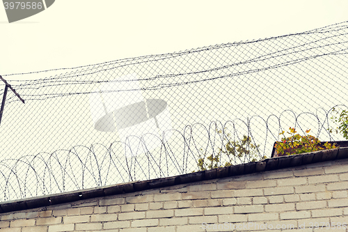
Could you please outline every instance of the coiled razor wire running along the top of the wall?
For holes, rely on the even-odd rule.
[[[271,115],[266,119],[262,118],[267,128],[264,133],[265,138],[262,148],[258,150],[258,160],[264,157],[270,157],[267,153],[267,145],[271,145],[274,141],[280,141],[280,133],[287,130],[287,126],[282,125],[282,116],[290,112],[294,117],[294,125],[290,127],[299,127],[303,134],[308,128],[302,128],[299,119],[303,115],[312,115],[317,118],[318,133],[316,137],[320,137],[321,133],[326,132],[331,138],[329,128],[335,127],[329,116],[333,109],[341,107],[348,109],[345,105],[336,105],[325,111],[326,118],[320,121],[319,116],[312,112],[302,112],[296,116],[294,111],[283,111],[279,116]],[[324,110],[324,109],[322,109]],[[163,178],[175,176],[184,173],[190,173],[198,170],[198,160],[206,159],[209,155],[217,155],[221,150],[226,150],[226,144],[230,139],[234,139],[237,144],[241,143],[242,136],[237,130],[237,121],[244,123],[247,127],[247,136],[251,137],[251,144],[258,144],[258,139],[253,136],[253,128],[251,122],[253,116],[248,121],[242,121],[236,118],[234,121],[226,121],[221,123],[218,121],[211,122],[208,127],[203,124],[187,125],[182,132],[178,132],[178,137],[183,139],[184,149],[182,153],[173,151],[175,144],[170,144],[166,139],[166,132],[161,138],[161,148],[159,151],[159,159],[155,158],[153,151],[148,150],[146,141],[143,137],[138,137],[139,144],[142,145],[141,152],[132,150],[127,144],[127,139],[123,141],[113,141],[106,146],[105,144],[92,144],[90,146],[73,146],[69,149],[54,150],[52,153],[38,153],[37,155],[25,155],[17,159],[6,159],[0,161],[0,190],[3,192],[2,201],[13,199],[23,199],[32,196],[40,196],[57,192],[68,192],[72,190],[82,190],[88,187],[101,187],[115,183],[125,183],[134,180],[149,180],[151,178]],[[278,123],[276,131],[271,131],[269,120],[275,117]],[[324,127],[327,124],[329,127]],[[330,125],[331,124],[331,125]],[[231,127],[232,126],[232,127]],[[195,136],[195,128],[203,127],[207,133],[207,143],[205,146],[198,145]],[[230,130],[228,130],[230,129]],[[220,134],[218,131],[221,130]],[[233,137],[230,137],[230,133]],[[216,139],[216,135],[218,138]],[[145,136],[145,135],[144,135]],[[201,137],[201,134],[199,134]],[[271,144],[269,144],[271,141]],[[331,140],[330,140],[331,141]],[[268,144],[267,144],[268,142]],[[246,145],[246,150],[250,144]],[[102,153],[97,153],[97,147],[102,148]],[[125,153],[119,154],[115,152],[118,146],[129,148]],[[203,149],[202,149],[203,148]],[[215,148],[215,149],[214,149]],[[220,150],[220,151],[219,151]],[[139,155],[139,153],[141,153]],[[162,166],[162,161],[165,160]],[[221,157],[219,164],[230,161],[226,157]],[[251,162],[250,157],[234,157],[233,164],[242,164]],[[168,166],[171,166],[169,168]],[[88,181],[86,181],[88,180]]]

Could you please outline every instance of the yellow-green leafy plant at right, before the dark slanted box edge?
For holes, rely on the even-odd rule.
[[[326,142],[324,145],[320,144],[317,137],[309,134],[310,130],[306,130],[305,136],[296,134],[296,130],[292,127],[290,127],[289,130],[290,132],[287,132],[287,134],[290,134],[290,136],[285,137],[285,131],[281,132],[280,134],[284,135],[285,138],[274,145],[276,153],[279,155],[294,155],[338,148],[337,144],[329,144],[329,142]]]

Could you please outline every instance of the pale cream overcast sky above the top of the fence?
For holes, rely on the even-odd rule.
[[[9,24],[0,8],[0,75],[299,33],[347,21],[347,9],[347,0],[57,0]]]

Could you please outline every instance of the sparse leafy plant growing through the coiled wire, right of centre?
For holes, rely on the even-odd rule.
[[[216,132],[222,134],[221,130],[216,130]],[[225,142],[224,149],[219,148],[216,155],[212,154],[207,157],[201,157],[197,160],[198,171],[216,169],[219,167],[228,167],[232,165],[234,160],[237,158],[241,159],[244,156],[251,162],[255,162],[260,158],[258,155],[258,148],[260,145],[251,143],[251,137],[244,135],[243,139],[238,143],[231,139],[230,134],[227,134],[227,138],[224,138],[223,141]],[[200,150],[203,151],[203,149]],[[221,164],[221,157],[223,154],[226,155],[228,160],[228,162],[225,162],[225,164]]]

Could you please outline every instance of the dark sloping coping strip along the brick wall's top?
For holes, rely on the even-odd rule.
[[[73,201],[92,199],[95,197],[152,190],[159,187],[195,183],[202,180],[212,180],[230,176],[241,176],[250,173],[285,169],[289,167],[298,167],[306,164],[313,164],[316,162],[326,162],[329,160],[340,160],[345,158],[348,158],[348,147],[335,148],[331,150],[319,150],[312,153],[303,153],[299,155],[273,157],[265,160],[260,160],[258,162],[249,162],[246,164],[238,164],[230,167],[222,167],[219,169],[198,171],[194,173],[183,174],[180,176],[133,181],[117,185],[95,187],[87,190],[77,190],[60,194],[35,196],[32,198],[19,199],[15,201],[3,201],[0,202],[0,213],[14,212],[18,210],[29,210],[32,208],[54,206],[61,203],[70,203]]]

